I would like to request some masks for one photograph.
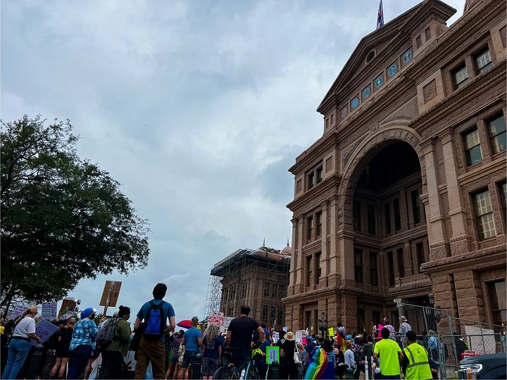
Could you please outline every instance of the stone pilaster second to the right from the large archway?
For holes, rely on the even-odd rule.
[[[461,255],[472,250],[472,238],[467,232],[467,214],[463,206],[461,189],[458,184],[458,167],[453,130],[446,129],[441,136],[446,173],[447,197],[449,198],[449,217],[451,217],[451,254]]]

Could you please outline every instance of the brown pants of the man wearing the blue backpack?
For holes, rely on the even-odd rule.
[[[153,368],[154,379],[165,377],[165,345],[161,340],[149,341],[141,338],[137,349],[137,363],[134,379],[145,379],[146,368],[149,362]]]

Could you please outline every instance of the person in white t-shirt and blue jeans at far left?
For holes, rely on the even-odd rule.
[[[30,306],[16,319],[2,379],[17,379],[30,348],[32,348],[32,339],[35,339],[39,344],[42,343],[41,338],[35,334],[34,317],[37,312],[37,307]]]

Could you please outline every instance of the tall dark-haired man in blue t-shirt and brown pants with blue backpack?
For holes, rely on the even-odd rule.
[[[136,369],[134,378],[135,379],[144,379],[146,374],[146,368],[148,364],[151,362],[153,367],[153,375],[154,379],[163,379],[165,374],[165,334],[158,339],[151,340],[150,338],[146,338],[145,334],[139,330],[139,326],[141,322],[144,320],[148,320],[151,310],[151,305],[158,305],[161,307],[160,310],[160,318],[163,324],[167,322],[169,319],[169,326],[165,329],[165,333],[169,331],[173,331],[176,327],[175,322],[175,312],[173,309],[173,305],[165,302],[162,298],[165,296],[165,292],[167,291],[167,286],[162,283],[158,283],[155,285],[153,290],[154,299],[148,301],[142,305],[141,310],[137,313],[136,320],[134,322],[134,330],[139,331],[136,334],[143,334],[141,340],[139,341],[139,348],[137,348],[136,357]]]

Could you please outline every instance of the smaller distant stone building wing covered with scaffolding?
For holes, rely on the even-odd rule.
[[[239,249],[211,268],[206,315],[220,310],[237,317],[241,305],[249,305],[250,317],[268,326],[284,326],[282,298],[289,285],[289,244],[282,251],[262,246]]]

